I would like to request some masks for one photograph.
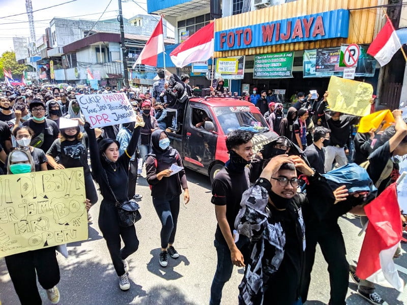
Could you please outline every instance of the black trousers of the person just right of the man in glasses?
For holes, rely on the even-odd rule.
[[[333,221],[334,222],[334,221]],[[328,263],[331,285],[330,305],[345,305],[349,280],[349,264],[346,261],[346,248],[342,232],[337,223],[321,223],[317,229],[306,229],[304,277],[301,286],[303,303],[307,300],[311,271],[315,260],[315,247],[319,243],[325,261]]]

